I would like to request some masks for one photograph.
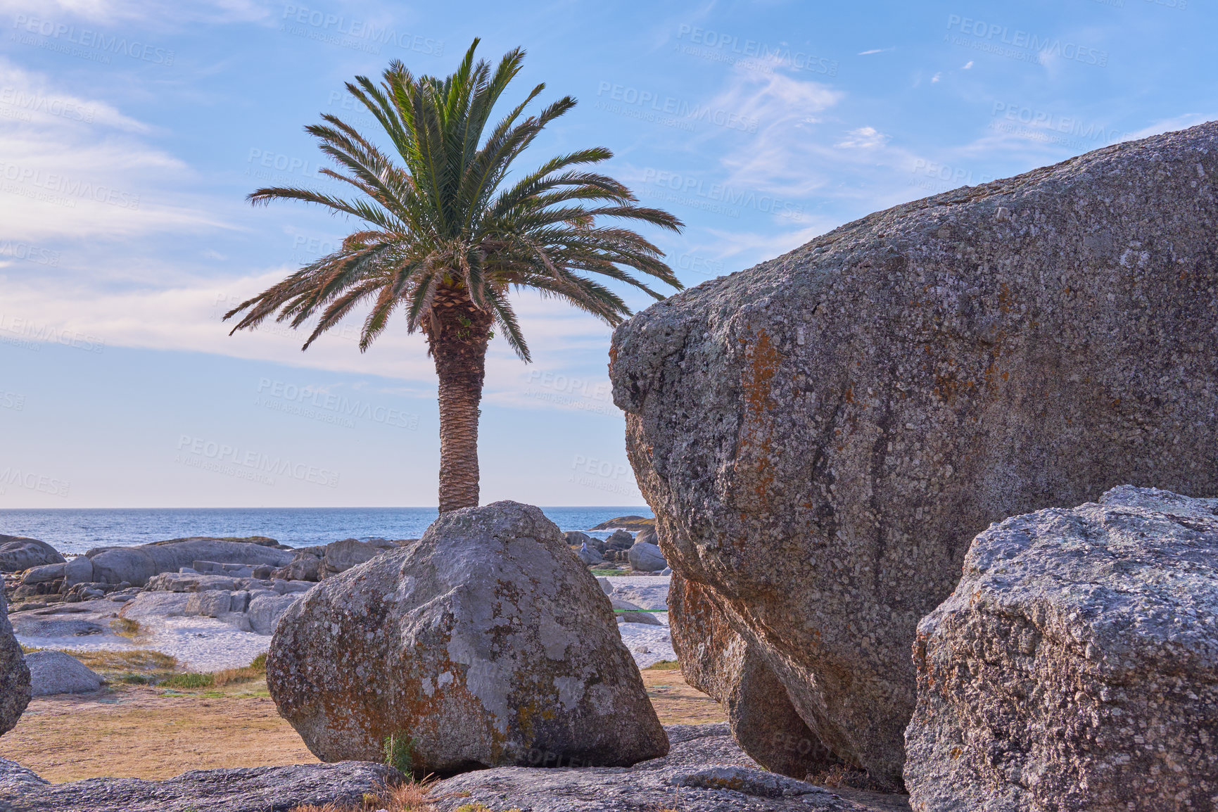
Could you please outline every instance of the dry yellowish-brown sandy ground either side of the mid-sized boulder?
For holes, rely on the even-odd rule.
[[[642,674],[665,724],[723,719],[719,704],[689,688],[680,671]],[[0,738],[0,757],[55,783],[317,761],[275,712],[263,682],[180,693],[117,685],[38,698]]]

